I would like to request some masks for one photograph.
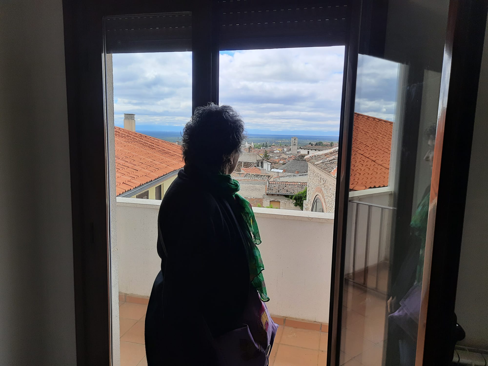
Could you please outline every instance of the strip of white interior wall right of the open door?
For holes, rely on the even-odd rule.
[[[456,294],[465,346],[488,350],[488,27],[481,65]]]

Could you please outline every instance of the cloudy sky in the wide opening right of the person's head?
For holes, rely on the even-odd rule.
[[[221,54],[219,102],[248,130],[335,132],[342,98],[344,47]]]

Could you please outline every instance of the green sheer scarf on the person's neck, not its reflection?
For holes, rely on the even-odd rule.
[[[263,270],[264,264],[261,258],[261,253],[258,249],[258,245],[261,244],[261,236],[259,235],[258,224],[254,217],[251,204],[240,194],[239,190],[241,186],[239,182],[232,179],[227,174],[212,174],[210,176],[211,183],[214,188],[218,188],[218,192],[223,195],[233,196],[240,208],[240,214],[244,218],[245,227],[243,227],[244,235],[246,235],[248,244],[248,257],[249,257],[249,273],[251,284],[258,290],[261,300],[269,301],[269,297],[266,293],[266,285],[264,284]]]

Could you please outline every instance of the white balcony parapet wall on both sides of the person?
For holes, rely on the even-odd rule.
[[[117,198],[119,290],[148,296],[160,269],[161,201]],[[328,323],[334,215],[255,207],[267,304],[276,315]]]

